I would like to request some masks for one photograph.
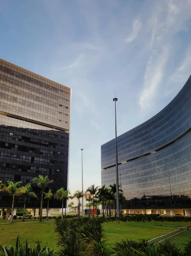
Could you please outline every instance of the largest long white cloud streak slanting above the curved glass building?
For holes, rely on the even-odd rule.
[[[144,89],[139,98],[139,105],[142,110],[149,109],[157,96],[157,91],[164,76],[169,50],[169,47],[163,46],[162,53],[154,52],[147,64],[144,75]]]

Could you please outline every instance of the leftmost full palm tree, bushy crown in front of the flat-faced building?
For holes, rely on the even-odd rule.
[[[14,207],[14,197],[16,195],[21,195],[25,192],[25,189],[21,186],[21,181],[13,183],[12,181],[8,180],[7,181],[7,186],[3,186],[0,191],[2,192],[7,192],[11,195],[13,195],[13,200],[12,200],[12,212],[11,212],[11,220],[10,223],[13,223],[13,207]]]

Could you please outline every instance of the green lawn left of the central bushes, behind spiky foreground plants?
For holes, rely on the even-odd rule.
[[[57,250],[56,233],[54,232],[54,221],[43,221],[37,223],[15,223],[0,224],[0,245],[11,245],[15,248],[17,236],[20,235],[21,243],[25,246],[26,239],[29,240],[30,247],[36,246],[39,238],[41,247],[48,242],[50,249]]]

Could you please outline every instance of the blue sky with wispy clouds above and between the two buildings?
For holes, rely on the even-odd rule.
[[[0,0],[0,58],[72,88],[71,192],[101,185],[101,144],[164,108],[191,74],[191,0]]]

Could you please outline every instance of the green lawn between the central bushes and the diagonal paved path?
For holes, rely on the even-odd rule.
[[[191,222],[160,222],[160,221],[145,221],[145,222],[104,222],[103,223],[103,237],[107,240],[106,246],[113,246],[115,242],[119,242],[122,239],[133,239],[139,241],[140,239],[150,240],[166,233],[176,230],[176,227],[162,227],[167,226],[179,226],[185,227],[190,225]]]

